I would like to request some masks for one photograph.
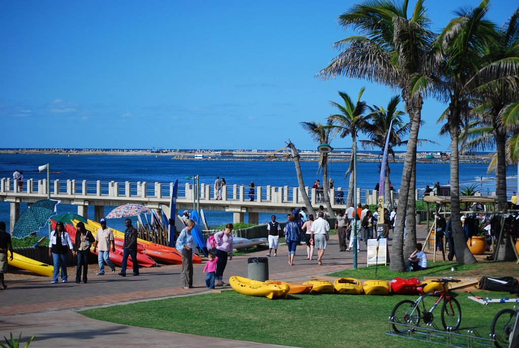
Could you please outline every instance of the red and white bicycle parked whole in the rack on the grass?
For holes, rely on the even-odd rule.
[[[416,288],[421,293],[418,299],[415,301],[403,300],[395,305],[393,311],[391,312],[391,323],[395,333],[413,331],[414,328],[408,328],[406,330],[402,330],[401,328],[399,329],[398,323],[394,323],[394,319],[401,320],[402,324],[413,326],[418,326],[420,324],[420,320],[423,320],[426,324],[432,323],[434,319],[432,312],[442,300],[443,304],[441,317],[443,327],[448,331],[453,331],[459,328],[461,323],[461,308],[459,302],[455,298],[449,296],[448,283],[457,283],[461,281],[458,279],[452,279],[452,277],[442,277],[441,279],[433,280],[432,282],[443,283],[443,289],[436,290],[433,293],[424,294],[424,284]],[[431,309],[427,311],[424,298],[435,295],[440,296],[438,297],[438,300],[434,302]],[[422,314],[420,314],[420,304]]]

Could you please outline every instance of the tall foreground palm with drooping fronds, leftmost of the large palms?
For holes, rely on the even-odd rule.
[[[391,271],[404,271],[403,232],[407,196],[416,166],[416,144],[421,120],[423,92],[434,69],[430,47],[434,35],[429,30],[425,0],[418,0],[407,17],[408,0],[365,1],[339,17],[339,24],[359,35],[334,44],[344,50],[318,74],[322,79],[336,76],[365,78],[402,91],[405,111],[411,119],[409,140],[402,172],[402,186],[393,236]]]

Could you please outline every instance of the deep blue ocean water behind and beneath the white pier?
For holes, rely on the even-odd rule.
[[[186,177],[199,175],[200,183],[212,185],[216,176],[225,178],[227,185],[249,185],[254,181],[256,186],[289,186],[297,187],[297,177],[293,162],[272,161],[211,161],[211,160],[172,160],[169,156],[108,156],[108,155],[0,155],[0,177],[12,178],[15,170],[23,171],[24,179],[46,178],[46,173],[38,173],[38,166],[50,163],[51,180],[75,179],[102,182],[160,182],[170,183],[179,179],[179,184],[192,183]],[[305,186],[311,186],[316,179],[321,179],[316,162],[301,162]],[[335,181],[335,187],[348,187],[348,178],[344,173],[348,162],[329,164],[328,172]],[[400,187],[403,163],[390,163],[390,179],[395,189]],[[495,191],[493,175],[488,175],[485,164],[460,164],[460,184],[479,185],[483,194]],[[426,185],[431,187],[439,181],[446,185],[449,180],[449,164],[418,163],[417,187],[421,190]],[[373,189],[379,180],[378,163],[358,163],[358,187]],[[507,169],[507,192],[517,191],[517,167]],[[483,180],[481,180],[483,178]],[[24,186],[25,189],[25,186]],[[23,212],[26,204],[20,205]],[[105,207],[108,214],[112,207]],[[77,207],[60,204],[58,214],[77,213]],[[93,208],[89,209],[89,218],[93,218]],[[278,219],[283,215],[277,212]],[[227,212],[206,212],[209,225],[222,225],[232,222],[233,215]],[[0,202],[0,220],[9,221],[9,203]],[[270,214],[260,214],[260,221],[270,220]],[[245,216],[247,221],[247,216]],[[117,229],[124,229],[122,220],[108,221]],[[43,232],[46,233],[46,229]],[[42,233],[43,233],[42,232]],[[43,233],[43,234],[45,234]]]

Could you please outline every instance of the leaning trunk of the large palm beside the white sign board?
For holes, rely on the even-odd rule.
[[[393,234],[393,249],[391,251],[391,263],[389,269],[391,271],[405,271],[404,262],[404,224],[407,213],[407,197],[409,194],[409,184],[413,174],[413,161],[416,162],[416,142],[418,140],[418,130],[420,129],[422,98],[420,95],[413,97],[408,96],[405,99],[405,107],[411,121],[411,129],[409,130],[409,140],[407,141],[407,150],[404,160],[404,168],[402,171],[402,185],[398,196],[399,209],[395,217],[395,228]]]

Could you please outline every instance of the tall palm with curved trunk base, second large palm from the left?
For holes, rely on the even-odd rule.
[[[458,148],[461,126],[468,124],[471,100],[477,87],[517,73],[513,60],[495,61],[490,53],[496,48],[499,35],[495,25],[485,20],[488,2],[483,0],[475,8],[456,11],[458,17],[447,24],[436,40],[443,59],[438,96],[449,102],[445,117],[451,139],[450,206],[456,258],[461,264],[476,262],[465,242],[460,221]]]

